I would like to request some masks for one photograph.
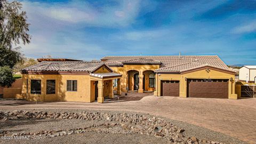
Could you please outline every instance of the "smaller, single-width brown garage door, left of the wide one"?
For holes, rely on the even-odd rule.
[[[162,96],[180,96],[180,83],[179,81],[161,81],[161,95]]]

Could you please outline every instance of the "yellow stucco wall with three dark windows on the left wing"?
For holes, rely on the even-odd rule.
[[[90,76],[89,75],[22,75],[23,86],[22,95],[26,95],[27,100],[35,101],[82,101],[90,102]],[[28,93],[27,90],[28,79]],[[31,79],[41,80],[41,94],[31,94]],[[55,94],[46,94],[46,80],[55,80]],[[77,81],[77,91],[67,91],[67,80]]]

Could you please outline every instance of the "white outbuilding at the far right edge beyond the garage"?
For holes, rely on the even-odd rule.
[[[243,66],[240,68],[239,81],[256,83],[256,66]]]

